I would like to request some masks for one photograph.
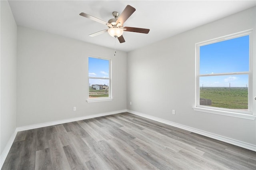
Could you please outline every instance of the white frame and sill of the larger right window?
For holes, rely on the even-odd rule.
[[[233,73],[212,73],[212,74],[200,74],[200,47],[216,42],[222,42],[225,40],[230,40],[233,38],[238,38],[242,36],[249,35],[249,71],[244,72],[233,72]],[[252,111],[253,108],[253,96],[252,92],[255,91],[255,87],[253,86],[253,36],[252,36],[252,30],[246,30],[243,32],[238,32],[235,34],[230,34],[228,36],[223,36],[220,38],[215,38],[212,40],[196,43],[196,95],[195,95],[195,106],[193,109],[195,111],[200,112],[206,112],[206,113],[213,113],[218,115],[226,115],[231,117],[239,117],[244,119],[255,119],[255,111]],[[219,107],[210,107],[210,106],[204,106],[200,105],[200,77],[204,76],[216,76],[216,75],[248,75],[248,111],[242,111],[242,110],[236,110],[236,109],[226,109],[226,108],[219,108]]]

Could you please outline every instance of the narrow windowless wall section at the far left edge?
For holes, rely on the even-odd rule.
[[[0,154],[16,129],[16,47],[17,26],[8,1],[1,6],[1,58],[0,58]]]

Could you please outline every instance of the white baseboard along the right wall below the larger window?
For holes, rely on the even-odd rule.
[[[240,140],[228,138],[228,137],[225,137],[225,136],[220,136],[218,134],[213,134],[213,133],[210,133],[210,132],[206,132],[204,130],[200,130],[200,129],[184,126],[184,125],[181,125],[181,124],[178,124],[178,123],[174,123],[174,122],[171,122],[171,121],[166,121],[164,119],[160,119],[160,118],[157,118],[157,117],[149,116],[149,115],[146,115],[146,114],[143,114],[143,113],[139,113],[139,112],[136,112],[136,111],[127,110],[127,112],[132,113],[134,115],[138,115],[138,116],[141,116],[141,117],[145,117],[145,118],[151,119],[153,121],[158,121],[160,123],[171,125],[173,127],[178,127],[178,128],[184,129],[184,130],[188,130],[190,132],[201,134],[203,136],[214,138],[214,139],[220,140],[222,142],[226,142],[226,143],[229,143],[229,144],[234,144],[234,145],[240,146],[242,148],[246,148],[246,149],[249,149],[249,150],[256,151],[256,145],[253,145],[253,144],[250,144],[250,143],[242,142]]]

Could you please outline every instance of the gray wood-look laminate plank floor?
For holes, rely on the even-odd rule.
[[[2,170],[255,170],[256,152],[130,113],[18,132]]]

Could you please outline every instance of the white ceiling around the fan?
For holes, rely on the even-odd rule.
[[[248,9],[256,5],[256,0],[9,0],[9,4],[18,26],[128,52]],[[81,12],[107,22],[113,18],[113,11],[121,13],[128,4],[136,11],[124,26],[148,28],[148,34],[124,32],[124,43],[119,43],[108,33],[88,36],[107,29],[107,26],[80,16]]]

